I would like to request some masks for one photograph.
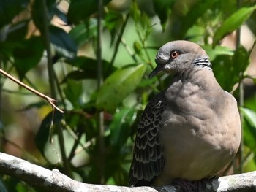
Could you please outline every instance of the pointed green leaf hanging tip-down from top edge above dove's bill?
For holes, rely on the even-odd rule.
[[[167,18],[170,16],[171,9],[175,2],[175,0],[153,0],[154,11],[161,21],[163,31],[165,31]]]

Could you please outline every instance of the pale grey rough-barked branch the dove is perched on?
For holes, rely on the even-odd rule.
[[[157,192],[170,191],[181,192],[178,186],[164,186],[159,188],[151,187],[136,187],[129,188],[115,185],[92,185],[81,183],[70,179],[66,175],[59,172],[58,169],[45,169],[42,166],[31,164],[23,159],[16,158],[12,155],[0,153],[0,172],[8,174],[12,177],[17,177],[25,181],[31,186],[37,186],[45,191],[88,191],[88,192],[111,192],[111,191],[126,191],[126,192]],[[256,191],[256,171],[244,174],[236,174],[218,179],[209,180],[206,184],[206,190],[202,192],[225,192],[225,191]]]

